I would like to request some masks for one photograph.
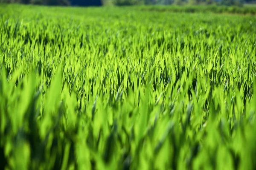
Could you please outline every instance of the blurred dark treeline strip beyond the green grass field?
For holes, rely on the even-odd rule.
[[[0,0],[0,3],[24,3],[52,6],[129,6],[129,5],[226,5],[242,6],[255,0]]]

